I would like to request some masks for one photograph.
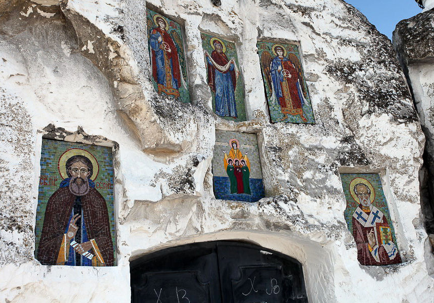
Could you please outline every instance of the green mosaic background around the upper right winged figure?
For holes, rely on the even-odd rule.
[[[303,70],[303,76],[304,76],[303,62],[300,59],[299,48],[295,44],[285,44],[285,43],[281,43],[281,42],[258,41],[256,46],[258,47],[259,62],[260,62],[262,53],[265,51],[270,53],[272,58],[275,57],[275,55],[273,55],[273,52],[272,52],[272,46],[276,43],[281,44],[286,48],[286,50],[287,50],[287,56],[286,57],[287,58],[288,58],[289,53],[293,53],[297,56],[298,60],[300,60],[301,67]],[[280,107],[278,102],[273,103],[271,100],[272,93],[270,92],[270,87],[268,87],[268,82],[267,82],[266,78],[264,77],[264,70],[262,68],[262,63],[261,63],[261,72],[262,72],[262,80],[263,80],[263,83],[265,86],[265,95],[267,98],[267,104],[268,104],[268,110],[269,110],[271,122],[273,122],[273,123],[285,122],[285,123],[315,124],[315,118],[313,116],[313,110],[312,110],[312,103],[310,101],[310,94],[309,94],[309,89],[307,87],[306,81],[303,81],[302,85],[304,85],[304,88],[306,89],[306,92],[307,92],[306,103],[303,106],[304,116],[306,117],[307,121],[303,122],[303,120],[301,120],[301,118],[300,118],[300,115],[297,115],[297,116],[288,115],[288,119],[286,119],[285,121],[281,121],[281,119],[283,118],[282,110],[281,110],[281,107]]]

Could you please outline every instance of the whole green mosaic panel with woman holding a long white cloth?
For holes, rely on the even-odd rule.
[[[240,75],[235,43],[200,33],[205,54],[212,110],[232,121],[246,121],[244,81]]]

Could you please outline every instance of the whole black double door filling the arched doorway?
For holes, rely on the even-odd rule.
[[[133,303],[307,302],[301,263],[248,243],[171,247],[134,260],[130,271]]]

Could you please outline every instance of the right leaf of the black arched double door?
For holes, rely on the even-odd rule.
[[[236,242],[221,242],[217,251],[223,302],[307,302],[303,269],[297,260]]]

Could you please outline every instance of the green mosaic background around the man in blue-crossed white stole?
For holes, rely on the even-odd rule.
[[[347,208],[344,211],[345,221],[347,222],[348,229],[353,234],[353,213],[356,210],[358,203],[353,199],[350,193],[350,183],[354,178],[364,178],[368,180],[375,190],[375,199],[372,205],[383,212],[389,222],[392,232],[393,242],[398,248],[398,242],[395,237],[395,229],[393,227],[392,219],[390,218],[389,208],[387,200],[383,192],[383,186],[381,184],[381,178],[378,174],[341,174],[342,187],[344,189],[345,198],[347,200]]]

